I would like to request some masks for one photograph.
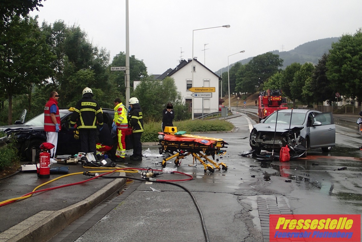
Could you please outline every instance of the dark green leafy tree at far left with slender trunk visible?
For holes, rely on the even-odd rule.
[[[12,123],[13,96],[28,95],[30,109],[31,90],[52,75],[53,58],[36,18],[14,16],[0,33],[0,87],[9,101],[8,124]]]

